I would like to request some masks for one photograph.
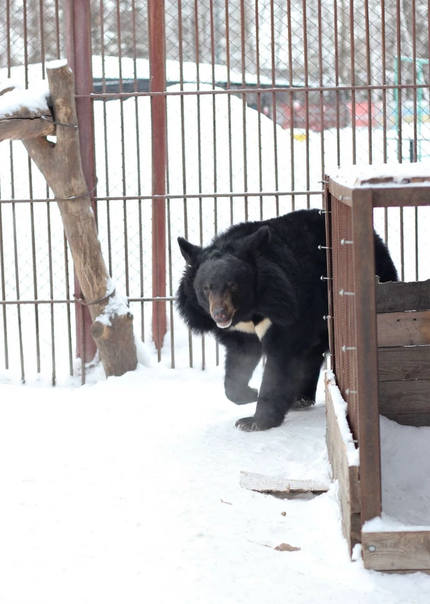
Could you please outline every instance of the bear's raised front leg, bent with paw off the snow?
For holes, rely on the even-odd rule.
[[[250,388],[248,382],[262,356],[260,341],[255,335],[235,334],[223,344],[226,348],[225,396],[237,405],[254,403],[258,390]]]

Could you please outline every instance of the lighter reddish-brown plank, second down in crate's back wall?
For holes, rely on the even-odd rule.
[[[419,344],[430,344],[430,310],[378,315],[379,347]]]

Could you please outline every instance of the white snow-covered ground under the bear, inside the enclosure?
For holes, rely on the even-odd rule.
[[[253,405],[225,399],[221,369],[163,364],[0,397],[2,603],[429,601],[430,576],[350,561],[335,484],[284,500],[239,486],[240,470],[327,478],[321,402],[248,434],[234,422]]]

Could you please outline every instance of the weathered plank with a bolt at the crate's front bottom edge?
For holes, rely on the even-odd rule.
[[[366,569],[374,571],[430,569],[430,530],[363,531],[361,538]]]

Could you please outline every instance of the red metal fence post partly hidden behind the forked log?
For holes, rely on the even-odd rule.
[[[74,86],[77,95],[90,95],[93,91],[93,72],[91,68],[90,38],[90,0],[65,0],[65,36],[67,61],[74,73]],[[93,108],[90,97],[76,100],[76,111],[79,125],[79,145],[83,174],[88,191],[95,186],[95,150]],[[94,194],[92,195],[94,197]],[[95,202],[93,201],[95,210]],[[78,280],[74,278],[74,294],[81,297]],[[77,308],[77,357],[86,363],[93,360],[97,347],[90,332],[93,321],[88,308],[83,312]]]

